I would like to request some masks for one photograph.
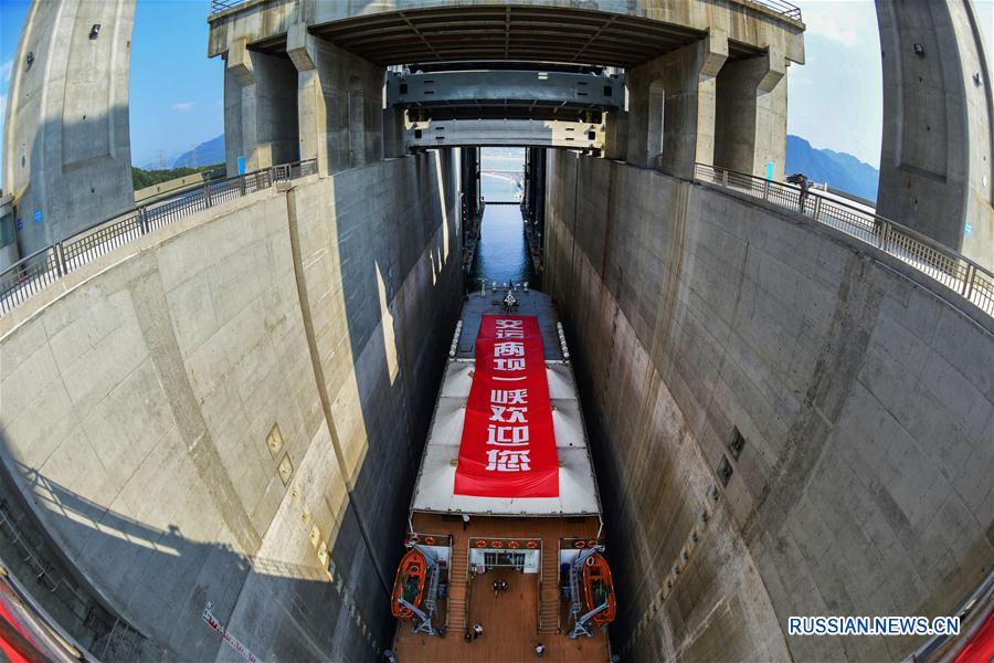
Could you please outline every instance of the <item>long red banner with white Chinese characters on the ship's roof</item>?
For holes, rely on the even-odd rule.
[[[552,404],[535,316],[483,316],[453,492],[559,496]]]

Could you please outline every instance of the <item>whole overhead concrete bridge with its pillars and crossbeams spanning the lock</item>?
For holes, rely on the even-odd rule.
[[[804,61],[803,23],[744,2],[605,0],[581,9],[559,0],[466,0],[444,7],[422,0],[255,0],[213,14],[210,24],[209,54],[226,59],[230,175],[240,156],[250,170],[317,158],[319,171],[327,173],[398,156],[405,148],[438,145],[582,146],[626,155],[639,166],[657,165],[662,152],[660,168],[687,178],[695,161],[710,164],[716,156],[758,175],[772,161],[774,173],[782,173],[782,78],[790,62]],[[515,50],[520,44],[527,52]],[[518,114],[504,122],[479,104],[477,116],[465,108],[457,117],[419,110],[405,131],[392,83],[383,108],[384,67],[422,60],[530,61],[522,67],[536,71],[543,61],[623,66],[631,110],[627,117],[610,112],[606,122],[593,125],[582,117],[581,126],[550,122],[540,104],[533,104],[533,116]],[[726,60],[730,63],[723,70]],[[503,106],[507,99],[549,94],[544,83],[530,78],[536,71],[485,71],[476,75],[489,81],[483,93],[466,72],[423,78],[442,86],[432,98],[478,103],[495,97]],[[415,76],[411,85],[420,80]],[[508,90],[501,92],[498,81]],[[556,98],[565,98],[561,87]],[[572,88],[569,93],[574,94]],[[598,95],[583,98],[592,103]],[[454,113],[451,104],[444,110]],[[437,124],[442,120],[444,125]]]

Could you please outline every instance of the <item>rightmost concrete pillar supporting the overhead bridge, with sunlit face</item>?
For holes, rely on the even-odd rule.
[[[726,62],[718,73],[715,115],[715,165],[783,179],[786,154],[786,91],[783,53],[771,49],[757,57]]]

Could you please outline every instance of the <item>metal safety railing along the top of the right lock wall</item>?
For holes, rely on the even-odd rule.
[[[831,225],[918,269],[994,315],[994,274],[934,240],[884,217],[800,187],[695,164],[695,178],[773,202]]]

